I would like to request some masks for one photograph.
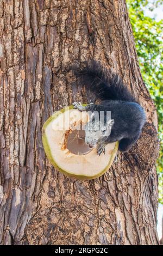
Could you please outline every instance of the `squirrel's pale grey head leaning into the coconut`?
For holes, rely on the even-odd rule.
[[[93,148],[98,142],[105,141],[110,135],[112,125],[114,125],[114,119],[102,122],[96,120],[92,114],[90,121],[85,125],[85,143]]]

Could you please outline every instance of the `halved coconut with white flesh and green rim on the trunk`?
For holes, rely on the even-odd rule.
[[[46,155],[60,172],[79,179],[93,179],[108,170],[114,161],[118,142],[106,145],[105,154],[85,143],[85,131],[79,126],[89,121],[87,112],[67,107],[43,125],[42,139]]]

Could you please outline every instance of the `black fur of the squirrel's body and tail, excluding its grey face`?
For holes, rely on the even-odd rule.
[[[114,125],[110,136],[99,138],[98,143],[111,143],[120,141],[119,149],[128,151],[140,137],[141,130],[146,121],[144,109],[136,102],[127,87],[118,75],[103,68],[95,60],[86,63],[83,69],[74,69],[74,74],[79,78],[82,86],[91,90],[102,100],[99,105],[93,104],[86,107],[86,111],[111,111]]]

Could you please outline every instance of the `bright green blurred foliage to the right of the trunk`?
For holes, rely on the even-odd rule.
[[[163,0],[127,0],[129,17],[143,81],[158,112],[160,155],[156,163],[159,176],[159,202],[163,204],[163,19],[152,11],[163,9]],[[162,15],[163,17],[163,15]]]

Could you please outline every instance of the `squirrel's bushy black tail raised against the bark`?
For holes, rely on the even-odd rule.
[[[118,75],[111,74],[96,60],[89,60],[85,68],[72,67],[82,86],[95,93],[100,100],[122,100],[136,102]]]

